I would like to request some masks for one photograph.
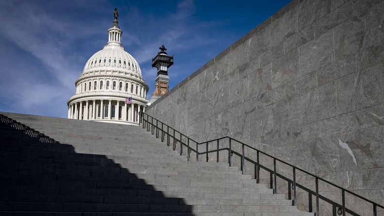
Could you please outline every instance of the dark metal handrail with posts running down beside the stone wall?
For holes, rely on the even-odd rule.
[[[146,120],[144,118],[144,115],[146,115]],[[148,120],[149,117],[151,118],[151,122],[149,122],[149,120]],[[327,181],[327,180],[325,180],[325,179],[323,179],[323,178],[321,178],[321,177],[319,177],[319,176],[317,176],[315,174],[312,174],[312,173],[310,173],[308,171],[305,171],[305,170],[300,169],[300,168],[298,168],[296,166],[293,166],[293,165],[289,164],[288,162],[285,162],[285,161],[283,161],[281,159],[278,159],[278,158],[276,158],[276,157],[274,157],[274,156],[272,156],[270,154],[262,152],[262,151],[254,148],[254,147],[252,147],[250,145],[247,145],[247,144],[245,144],[245,143],[243,143],[243,142],[241,142],[241,141],[239,141],[237,139],[233,139],[233,138],[231,138],[229,136],[225,136],[225,137],[218,138],[218,139],[211,139],[211,140],[199,143],[199,142],[189,138],[188,136],[184,135],[183,133],[177,131],[175,128],[173,128],[173,127],[171,127],[171,126],[161,122],[160,120],[158,120],[158,119],[148,115],[147,113],[140,112],[140,119],[141,119],[140,123],[142,124],[143,128],[146,128],[147,131],[151,131],[152,135],[154,134],[154,130],[156,130],[156,138],[159,138],[158,137],[158,132],[160,130],[160,132],[161,132],[161,141],[164,141],[164,136],[167,135],[167,145],[168,146],[170,144],[170,138],[172,138],[173,141],[174,141],[174,143],[173,143],[173,149],[174,150],[176,150],[176,142],[178,141],[180,143],[180,150],[179,150],[180,155],[182,155],[183,146],[187,147],[187,149],[188,149],[187,150],[187,159],[188,160],[190,160],[190,153],[194,152],[194,153],[196,153],[196,161],[199,161],[199,157],[198,157],[199,155],[206,154],[206,161],[208,162],[208,153],[217,152],[217,161],[216,162],[219,162],[219,152],[220,151],[228,151],[228,164],[229,164],[229,166],[231,166],[231,159],[232,159],[232,155],[233,154],[236,154],[236,155],[241,157],[241,165],[240,165],[240,167],[241,167],[242,174],[245,174],[245,165],[244,165],[244,161],[245,160],[247,160],[247,161],[249,161],[249,162],[251,162],[251,163],[253,163],[255,165],[255,179],[256,179],[256,183],[259,183],[259,180],[260,180],[260,175],[259,175],[259,170],[260,169],[263,169],[263,170],[266,170],[267,172],[269,172],[270,173],[270,187],[271,187],[271,189],[273,189],[273,193],[277,193],[277,190],[276,190],[277,189],[276,188],[277,187],[276,186],[276,177],[279,177],[279,178],[287,181],[288,182],[288,199],[289,200],[291,199],[291,189],[290,188],[291,188],[291,186],[293,188],[293,201],[292,201],[292,205],[296,205],[297,204],[297,196],[296,196],[296,191],[297,190],[296,190],[296,187],[299,187],[299,188],[303,189],[304,191],[308,192],[308,203],[309,203],[308,204],[308,209],[309,209],[309,212],[312,212],[312,196],[316,196],[316,216],[319,216],[319,199],[321,199],[323,201],[326,201],[329,204],[332,204],[332,208],[333,208],[332,211],[333,211],[333,215],[334,216],[336,216],[336,208],[338,208],[337,209],[337,214],[338,215],[342,214],[343,216],[345,216],[346,213],[349,213],[352,216],[360,216],[359,214],[353,212],[351,209],[346,208],[346,206],[345,206],[345,193],[351,194],[351,195],[353,195],[353,196],[355,196],[355,197],[357,197],[359,199],[362,199],[364,201],[367,201],[367,202],[371,203],[373,205],[373,216],[377,216],[377,207],[382,208],[384,210],[384,206],[383,205],[380,205],[380,204],[378,204],[378,203],[376,203],[374,201],[370,201],[367,198],[364,198],[364,197],[362,197],[362,196],[360,196],[360,195],[358,195],[358,194],[356,194],[356,193],[354,193],[354,192],[352,192],[350,190],[347,190],[347,189],[345,189],[345,188],[343,188],[341,186],[338,186],[338,185],[336,185],[336,184],[334,184],[332,182],[329,182],[329,181]],[[153,123],[154,120],[156,120],[156,124]],[[161,128],[158,125],[159,123],[161,123]],[[164,128],[163,128],[164,125],[167,128],[166,132],[164,131]],[[173,131],[173,135],[172,135],[172,133],[170,133],[169,129],[171,129],[171,131]],[[176,138],[176,133],[180,134],[179,139]],[[187,139],[187,144],[182,141],[182,137],[183,136]],[[228,148],[221,148],[221,149],[219,148],[219,140],[222,140],[222,139],[229,139],[229,147]],[[231,141],[232,140],[241,144],[241,150],[242,150],[241,154],[232,150],[232,148],[231,148]],[[194,142],[196,144],[196,149],[193,149],[190,146],[190,141],[192,141],[192,142]],[[217,142],[217,149],[216,150],[208,151],[208,143],[210,143],[210,142],[213,143],[215,141]],[[198,146],[202,145],[202,144],[206,144],[206,151],[205,152],[199,152],[198,151]],[[252,160],[252,159],[250,159],[250,158],[245,156],[245,147],[248,147],[248,148],[251,148],[253,150],[256,150],[256,161],[254,161],[254,160]],[[269,168],[267,168],[267,167],[265,167],[265,166],[260,164],[260,162],[259,162],[260,154],[266,155],[266,156],[268,156],[268,157],[273,159],[273,170],[271,170],[271,169],[269,169]],[[286,176],[283,176],[280,173],[277,173],[277,171],[276,171],[276,161],[281,162],[281,163],[283,163],[285,165],[288,165],[289,167],[292,168],[292,173],[293,173],[292,174],[292,178],[293,178],[292,180],[289,179]],[[310,176],[315,178],[315,184],[316,184],[315,191],[305,187],[304,185],[300,185],[300,184],[298,184],[296,182],[296,171],[297,170],[299,170],[301,172],[304,172],[305,174],[310,175]],[[324,183],[327,183],[329,185],[332,185],[332,186],[334,186],[334,187],[336,187],[336,188],[341,190],[342,204],[339,204],[339,203],[337,203],[335,201],[332,201],[332,200],[330,200],[330,199],[328,199],[328,198],[326,198],[326,197],[324,197],[324,196],[319,194],[319,180],[324,182]]]

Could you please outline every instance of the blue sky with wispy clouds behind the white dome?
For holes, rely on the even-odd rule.
[[[175,56],[171,89],[289,1],[2,0],[0,111],[66,118],[74,82],[107,43],[115,7],[122,44],[150,94],[159,46]]]

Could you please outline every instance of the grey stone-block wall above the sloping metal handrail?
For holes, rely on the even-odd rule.
[[[384,204],[383,12],[384,0],[293,0],[146,112]]]

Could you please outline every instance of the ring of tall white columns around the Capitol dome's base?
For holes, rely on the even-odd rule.
[[[139,112],[144,111],[144,105],[133,101],[126,104],[124,100],[85,100],[69,105],[68,119],[139,123]]]

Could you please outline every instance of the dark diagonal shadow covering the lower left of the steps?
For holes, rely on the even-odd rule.
[[[183,212],[192,216],[183,199],[165,197],[105,155],[78,154],[72,145],[3,115],[0,162],[0,215]]]

